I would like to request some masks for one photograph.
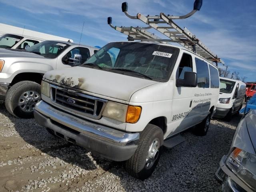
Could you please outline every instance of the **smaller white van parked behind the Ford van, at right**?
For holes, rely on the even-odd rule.
[[[239,80],[220,77],[220,96],[214,117],[230,121],[246,99],[246,84]]]

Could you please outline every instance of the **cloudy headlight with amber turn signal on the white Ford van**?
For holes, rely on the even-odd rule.
[[[102,116],[121,122],[136,123],[140,118],[140,113],[140,106],[124,105],[109,101],[106,104]]]

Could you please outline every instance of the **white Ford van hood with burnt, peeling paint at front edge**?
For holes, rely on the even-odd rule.
[[[87,67],[52,70],[44,78],[92,94],[129,102],[134,92],[158,82]],[[111,99],[110,99],[111,100]]]

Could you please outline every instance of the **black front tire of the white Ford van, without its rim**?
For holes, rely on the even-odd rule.
[[[156,152],[154,162],[147,168],[146,158],[154,140],[159,140],[159,150]],[[158,126],[148,124],[140,134],[140,141],[134,155],[125,162],[127,172],[140,180],[150,177],[160,159],[163,144],[164,134],[162,129]]]

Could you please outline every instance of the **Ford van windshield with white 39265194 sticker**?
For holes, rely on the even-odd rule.
[[[82,66],[166,82],[178,48],[139,42],[114,42],[98,50]]]

